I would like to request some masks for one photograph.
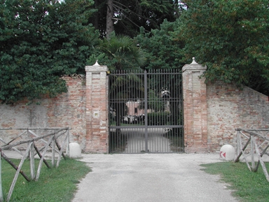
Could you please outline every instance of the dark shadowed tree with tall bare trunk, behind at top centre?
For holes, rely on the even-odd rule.
[[[184,4],[174,0],[95,0],[95,6],[95,27],[101,36],[114,30],[116,34],[134,37],[140,27],[150,32],[160,28],[165,19],[176,20]]]

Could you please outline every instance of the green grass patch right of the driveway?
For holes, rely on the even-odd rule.
[[[265,163],[269,168],[269,163]],[[219,162],[202,164],[202,170],[213,175],[221,175],[221,181],[230,184],[233,196],[240,201],[269,201],[269,182],[266,180],[261,166],[257,173],[249,171],[246,163]]]

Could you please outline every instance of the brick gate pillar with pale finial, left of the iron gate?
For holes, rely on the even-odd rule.
[[[108,79],[106,66],[86,66],[85,152],[108,153]]]

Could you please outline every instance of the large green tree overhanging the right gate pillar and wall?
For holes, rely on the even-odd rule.
[[[268,0],[185,1],[177,35],[206,81],[244,84],[269,95]],[[187,60],[184,60],[187,61]]]

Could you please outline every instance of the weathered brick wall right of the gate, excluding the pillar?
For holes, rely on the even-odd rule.
[[[268,96],[223,82],[207,83],[207,141],[209,151],[223,144],[236,148],[235,128],[269,128]]]

